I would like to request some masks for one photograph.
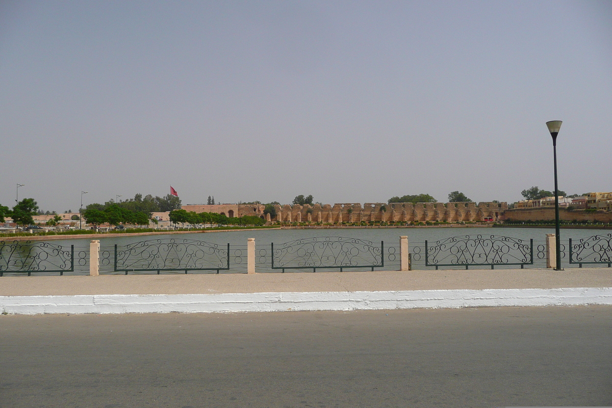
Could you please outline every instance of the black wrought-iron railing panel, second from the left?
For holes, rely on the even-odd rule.
[[[102,255],[105,259],[105,255]],[[190,239],[155,239],[114,246],[114,272],[230,269],[230,244]]]

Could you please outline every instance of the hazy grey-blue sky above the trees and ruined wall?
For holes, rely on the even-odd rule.
[[[612,191],[611,1],[0,0],[0,204]]]

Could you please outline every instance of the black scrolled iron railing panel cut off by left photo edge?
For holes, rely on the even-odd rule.
[[[72,272],[75,248],[45,241],[0,241],[0,276],[6,272]]]

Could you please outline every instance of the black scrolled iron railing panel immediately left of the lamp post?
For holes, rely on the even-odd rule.
[[[521,240],[502,236],[458,236],[436,241],[430,246],[425,240],[425,265],[469,266],[478,265],[532,265],[533,239]]]

